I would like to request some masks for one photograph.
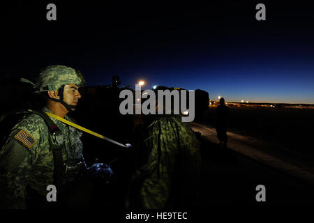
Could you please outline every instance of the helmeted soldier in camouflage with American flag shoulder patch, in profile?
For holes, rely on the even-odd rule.
[[[78,87],[83,86],[84,78],[80,72],[66,66],[49,66],[36,80],[34,87],[48,99],[43,112],[73,122],[66,114],[75,110],[81,98]],[[82,132],[55,118],[51,120],[63,134],[64,184],[86,169],[82,160]],[[47,124],[37,114],[24,116],[11,130],[0,151],[1,208],[27,208],[28,187],[45,200],[47,185],[54,184],[54,155],[49,137]]]

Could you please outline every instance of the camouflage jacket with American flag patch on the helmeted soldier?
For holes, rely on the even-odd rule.
[[[47,107],[43,112],[52,113]],[[63,133],[63,164],[77,163],[82,158],[82,132],[55,118],[52,121]],[[71,120],[68,116],[65,117]],[[29,114],[10,132],[0,151],[0,198],[5,208],[26,208],[27,185],[39,194],[47,194],[54,183],[54,160],[48,141],[50,133],[42,117]]]

